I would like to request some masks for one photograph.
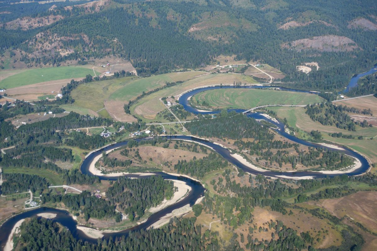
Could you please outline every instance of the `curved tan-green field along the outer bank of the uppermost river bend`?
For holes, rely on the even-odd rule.
[[[131,107],[131,114],[139,116],[146,122],[151,122],[156,118],[157,113],[165,109],[164,105],[162,105],[159,100],[161,97],[178,96],[184,91],[206,85],[233,84],[233,82],[258,84],[255,79],[245,75],[235,75],[230,73],[205,75],[143,97]]]

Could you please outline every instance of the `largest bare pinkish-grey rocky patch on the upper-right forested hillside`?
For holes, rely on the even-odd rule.
[[[315,49],[321,52],[343,52],[360,49],[357,44],[347,37],[327,35],[313,38],[304,38],[282,44],[282,48],[295,49],[297,52],[305,49]]]

